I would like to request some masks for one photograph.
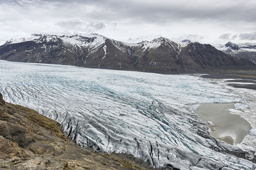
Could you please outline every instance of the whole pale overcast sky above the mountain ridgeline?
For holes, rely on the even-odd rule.
[[[256,43],[255,0],[0,0],[0,43],[33,33],[96,32],[201,43]]]

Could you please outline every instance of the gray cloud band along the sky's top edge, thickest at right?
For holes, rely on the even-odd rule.
[[[147,22],[164,22],[179,19],[205,19],[237,21],[246,20],[255,22],[256,3],[253,0],[216,0],[209,5],[209,1],[186,0],[2,0],[3,3],[17,3],[21,5],[58,3],[68,4],[70,8],[76,8],[72,4],[97,6],[105,15],[105,18],[133,18],[133,20]],[[99,15],[99,13],[95,13]],[[93,17],[93,16],[91,16]]]

